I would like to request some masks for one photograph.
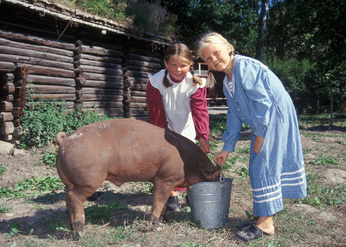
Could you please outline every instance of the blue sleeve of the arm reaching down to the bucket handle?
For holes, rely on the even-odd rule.
[[[231,96],[229,95],[227,89],[224,87],[224,94],[227,99],[227,105],[231,106],[229,103],[231,100]],[[238,141],[240,131],[242,130],[242,122],[238,119],[238,117],[234,114],[232,107],[228,107],[227,111],[227,121],[226,121],[226,131],[224,135],[222,135],[222,141],[225,143],[222,150],[227,152],[234,152],[235,145]]]

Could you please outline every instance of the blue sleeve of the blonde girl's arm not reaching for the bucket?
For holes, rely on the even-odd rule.
[[[235,80],[241,82],[246,96],[253,103],[254,115],[251,120],[255,125],[254,135],[264,137],[269,122],[271,99],[265,88],[265,70],[259,64],[242,59],[235,65]]]

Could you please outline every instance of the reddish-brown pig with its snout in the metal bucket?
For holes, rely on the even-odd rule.
[[[71,135],[58,132],[56,168],[66,186],[70,228],[84,228],[83,202],[107,180],[153,183],[149,221],[166,221],[169,196],[175,187],[219,181],[220,166],[191,140],[171,130],[134,119],[112,119],[80,127]]]

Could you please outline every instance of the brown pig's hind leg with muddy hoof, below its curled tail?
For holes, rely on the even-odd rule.
[[[76,186],[66,192],[65,201],[70,216],[70,227],[77,232],[79,236],[82,236],[85,222],[83,203],[97,190],[97,188]]]

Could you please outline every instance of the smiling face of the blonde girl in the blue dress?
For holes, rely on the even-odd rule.
[[[207,61],[207,64],[212,70],[226,72],[230,69],[230,51],[228,45],[210,43],[203,48],[202,57]]]

